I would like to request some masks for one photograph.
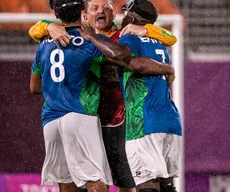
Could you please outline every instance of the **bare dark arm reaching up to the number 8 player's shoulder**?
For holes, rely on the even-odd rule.
[[[103,38],[102,36],[96,34],[95,30],[90,26],[77,30],[84,39],[91,41],[105,56],[125,61],[126,63],[130,62],[131,50],[128,46],[117,44],[107,37]]]

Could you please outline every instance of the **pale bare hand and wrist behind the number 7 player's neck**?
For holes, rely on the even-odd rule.
[[[126,27],[124,27],[119,35],[119,37],[125,35],[125,34],[132,34],[132,35],[138,35],[138,36],[145,36],[147,33],[147,29],[145,29],[142,26],[134,25],[134,24],[128,24]]]

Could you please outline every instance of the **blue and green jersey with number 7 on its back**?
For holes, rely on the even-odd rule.
[[[169,63],[167,49],[158,40],[125,35],[118,43],[129,46],[135,55]],[[151,133],[182,134],[181,118],[163,75],[142,76],[124,70],[122,80],[127,140]]]

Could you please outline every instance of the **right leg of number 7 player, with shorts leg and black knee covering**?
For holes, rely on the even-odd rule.
[[[167,134],[164,140],[163,155],[169,177],[161,179],[162,192],[176,192],[173,179],[179,175],[180,140],[181,136],[174,134]]]

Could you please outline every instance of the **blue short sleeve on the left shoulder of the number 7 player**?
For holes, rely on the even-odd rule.
[[[122,36],[117,43],[127,45],[130,48],[132,55],[139,55],[141,51],[140,39],[137,36],[126,34]]]

